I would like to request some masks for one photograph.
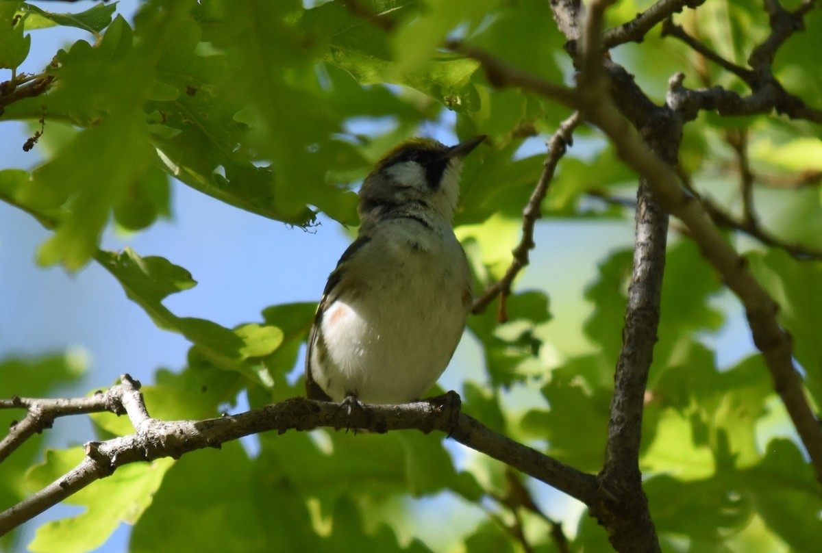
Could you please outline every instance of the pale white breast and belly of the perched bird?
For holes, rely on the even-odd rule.
[[[470,274],[450,225],[382,222],[346,266],[321,329],[328,353],[312,359],[331,399],[420,399],[445,370],[465,325]],[[346,290],[342,283],[356,283]]]

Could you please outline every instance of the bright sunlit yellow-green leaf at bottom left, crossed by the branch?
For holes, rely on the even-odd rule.
[[[46,452],[46,460],[32,468],[27,484],[40,489],[75,468],[85,457],[83,449]],[[110,477],[85,487],[65,501],[81,505],[76,517],[44,523],[37,529],[30,551],[37,553],[82,553],[102,545],[120,523],[136,523],[151,505],[156,491],[171,468],[173,459],[133,463],[118,468]]]

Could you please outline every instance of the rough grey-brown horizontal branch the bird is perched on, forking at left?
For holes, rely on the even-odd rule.
[[[453,392],[403,405],[368,405],[350,414],[339,403],[294,398],[254,411],[204,421],[159,421],[148,416],[138,391],[139,382],[127,375],[122,376],[122,380],[122,385],[115,386],[110,396],[119,398],[113,403],[119,401],[135,432],[112,440],[85,444],[85,459],[76,468],[20,504],[0,513],[0,536],[90,483],[111,475],[123,465],[164,457],[178,459],[196,449],[219,448],[227,441],[259,432],[277,431],[282,434],[289,430],[306,431],[321,426],[362,428],[375,432],[411,429],[426,433],[441,431],[460,444],[498,459],[580,501],[590,503],[596,496],[595,477],[499,435],[459,412],[459,396]],[[102,395],[108,397],[109,393]],[[44,405],[49,400],[31,401],[33,405]],[[12,407],[21,407],[21,404],[15,403]],[[118,412],[118,407],[107,406],[99,399],[91,406],[78,406],[70,402],[63,411],[54,412],[53,416],[104,410]]]

